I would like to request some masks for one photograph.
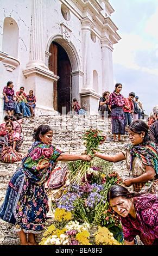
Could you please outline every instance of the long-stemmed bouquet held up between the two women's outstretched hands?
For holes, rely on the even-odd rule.
[[[91,155],[93,156],[93,150],[98,150],[98,145],[102,144],[106,136],[102,131],[99,130],[93,130],[90,129],[83,135],[83,139],[86,141],[84,144],[86,146],[86,155]],[[74,161],[73,163],[75,163]],[[77,168],[74,168],[73,172],[71,172],[69,176],[69,180],[73,184],[80,185],[81,181],[84,180],[87,182],[87,170],[91,167],[91,162],[88,161],[79,161],[79,164]]]

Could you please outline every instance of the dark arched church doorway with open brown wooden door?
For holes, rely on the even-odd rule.
[[[65,107],[64,113],[68,113],[72,108],[71,63],[67,52],[58,42],[50,44],[49,52],[48,68],[60,77],[53,85],[53,107],[62,114],[62,107]]]

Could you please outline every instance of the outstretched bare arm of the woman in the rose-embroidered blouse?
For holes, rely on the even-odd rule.
[[[91,161],[92,156],[90,155],[73,155],[61,153],[57,161],[73,161],[73,160],[82,160],[82,161]]]

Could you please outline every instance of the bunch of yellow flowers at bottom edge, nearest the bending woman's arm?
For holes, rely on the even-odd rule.
[[[122,245],[106,227],[99,227],[98,232],[94,233],[94,242],[96,245]]]

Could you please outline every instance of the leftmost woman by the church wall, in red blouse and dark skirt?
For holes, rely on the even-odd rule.
[[[4,95],[4,110],[8,112],[9,115],[12,115],[15,106],[14,106],[14,90],[12,89],[12,82],[8,81],[7,86],[3,89]]]

